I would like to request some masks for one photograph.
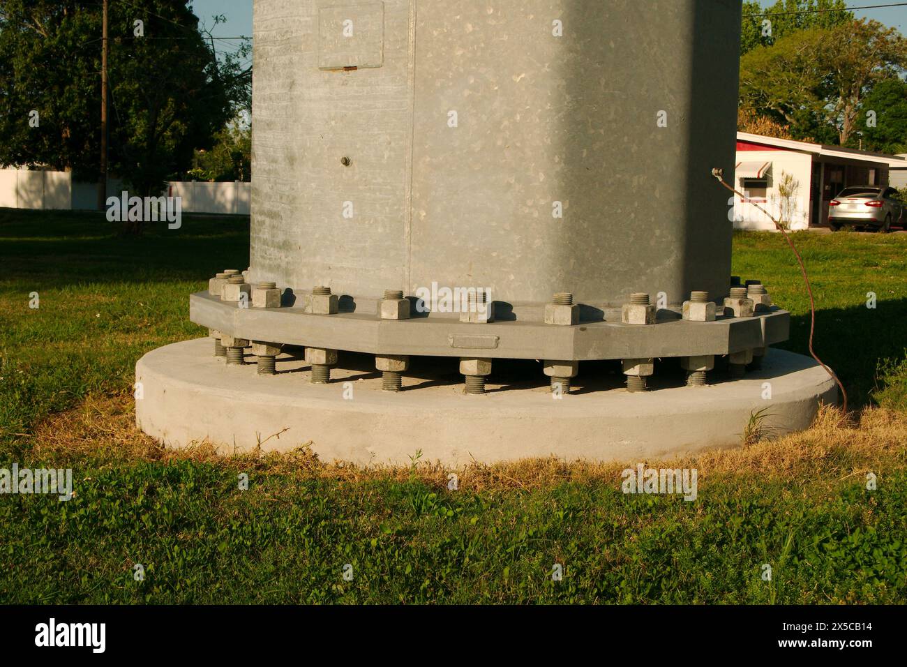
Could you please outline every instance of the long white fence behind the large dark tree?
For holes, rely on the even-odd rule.
[[[0,207],[43,211],[93,211],[97,183],[73,181],[70,172],[0,169]],[[120,197],[125,188],[119,179],[107,181],[107,196]],[[164,194],[182,198],[184,213],[249,215],[251,183],[171,181]]]

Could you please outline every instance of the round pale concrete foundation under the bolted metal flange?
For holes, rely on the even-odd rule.
[[[618,379],[586,392],[580,366],[577,392],[561,398],[541,368],[538,382],[498,385],[493,375],[489,393],[467,396],[455,373],[417,369],[405,376],[404,391],[382,391],[368,358],[334,369],[327,385],[310,384],[306,363],[291,355],[278,357],[273,376],[259,376],[255,358],[246,359],[225,364],[210,338],[149,352],[136,364],[136,423],[166,446],[207,439],[224,454],[266,439],[266,451],[311,441],[327,462],[408,464],[419,450],[422,460],[450,466],[551,455],[638,461],[739,445],[751,414],[763,408],[763,424],[775,434],[805,428],[820,402],[837,400],[834,381],[812,359],[779,349],[744,379],[646,393],[629,393]]]

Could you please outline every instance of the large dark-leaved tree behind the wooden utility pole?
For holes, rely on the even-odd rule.
[[[248,100],[248,69],[238,57],[218,59],[188,5],[111,3],[110,170],[141,195],[185,171],[194,149],[210,146]],[[0,164],[97,178],[101,44],[98,2],[3,0]]]

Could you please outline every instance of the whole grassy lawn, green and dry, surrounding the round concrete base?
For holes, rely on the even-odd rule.
[[[0,467],[72,467],[76,488],[69,502],[0,495],[0,602],[903,602],[907,235],[795,241],[815,349],[856,412],[676,462],[699,471],[688,503],[623,495],[622,465],[469,466],[451,491],[418,460],[163,450],[132,426],[135,360],[202,333],[187,295],[248,266],[248,221],[186,216],[123,240],[95,214],[0,210]],[[784,240],[734,242],[734,273],[791,310],[785,347],[804,352],[808,300]]]

